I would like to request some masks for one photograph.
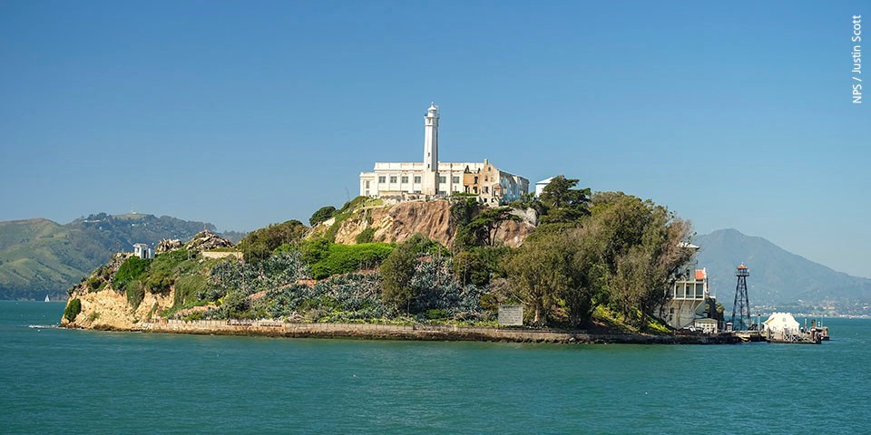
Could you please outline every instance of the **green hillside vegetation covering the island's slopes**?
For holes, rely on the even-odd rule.
[[[414,204],[434,211],[418,220],[444,216],[438,231],[450,233],[442,238],[449,243],[399,233],[415,224],[396,221],[372,225],[372,237],[355,237],[359,243],[336,243],[333,236],[341,233],[331,228],[351,218],[367,222],[367,213],[385,208],[358,198],[318,210],[315,228],[294,220],[250,233],[238,245],[245,261],[209,259],[185,247],[153,260],[117,258],[70,289],[71,301],[81,304],[73,323],[93,326],[111,317],[130,327],[159,315],[494,324],[499,304],[522,303],[534,326],[662,330],[651,313],[690,259],[679,247],[689,224],[651,201],[619,192],[591,196],[589,189],[573,189],[576,182],[556,179],[541,199],[512,207],[485,208],[465,197]],[[511,247],[500,231],[529,218],[528,210],[543,224]],[[400,216],[389,213],[382,216]],[[379,237],[385,234],[398,240]]]

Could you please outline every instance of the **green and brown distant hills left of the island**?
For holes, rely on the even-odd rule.
[[[163,216],[100,213],[61,225],[44,218],[0,221],[0,299],[53,299],[134,243],[188,239],[211,224]],[[241,233],[231,233],[237,239]]]

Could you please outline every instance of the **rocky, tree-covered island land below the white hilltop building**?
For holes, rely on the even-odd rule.
[[[341,208],[118,253],[69,289],[62,325],[154,333],[548,343],[734,343],[661,320],[690,223],[551,180],[503,205],[465,194]],[[156,255],[155,255],[156,254]],[[523,324],[497,322],[520,306]]]

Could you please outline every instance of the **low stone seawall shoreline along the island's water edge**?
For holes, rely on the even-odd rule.
[[[142,333],[188,333],[197,335],[267,336],[281,338],[345,338],[359,340],[414,340],[501,343],[578,344],[734,344],[738,337],[719,335],[649,335],[631,333],[587,333],[529,329],[482,328],[455,325],[398,324],[302,324],[277,321],[165,321],[143,322],[131,327],[95,324],[83,327],[62,324],[69,329]]]

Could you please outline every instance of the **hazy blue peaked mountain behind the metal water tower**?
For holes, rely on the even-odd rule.
[[[693,241],[701,247],[699,267],[707,267],[711,291],[727,309],[735,295],[735,267],[750,269],[750,304],[871,302],[871,279],[847,275],[791,254],[762,237],[720,229]]]

